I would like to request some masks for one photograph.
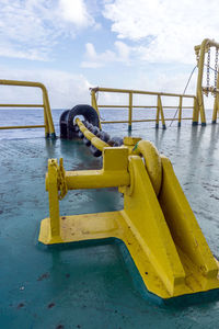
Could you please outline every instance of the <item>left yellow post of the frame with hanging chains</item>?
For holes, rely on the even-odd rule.
[[[193,115],[193,125],[198,124],[198,115],[200,113],[200,121],[201,126],[206,126],[206,115],[205,115],[205,106],[204,106],[204,97],[203,97],[203,72],[204,72],[204,65],[205,65],[205,53],[206,48],[209,44],[209,39],[205,38],[200,45],[200,53],[198,59],[198,78],[197,78],[197,89],[196,89],[196,98],[197,98],[197,106],[194,107],[194,115]]]

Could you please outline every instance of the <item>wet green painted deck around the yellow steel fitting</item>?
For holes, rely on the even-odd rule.
[[[219,256],[219,125],[146,128],[132,135],[153,141],[170,157]],[[119,242],[49,248],[37,242],[39,223],[48,216],[47,159],[60,157],[66,170],[101,167],[81,140],[0,141],[0,328],[218,328],[219,299],[204,303],[199,296],[200,304],[161,307],[143,298]],[[122,206],[114,189],[70,191],[60,202],[60,214]]]

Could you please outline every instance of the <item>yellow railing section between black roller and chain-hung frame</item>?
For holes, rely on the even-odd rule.
[[[125,93],[128,94],[128,104],[126,105],[100,105],[97,104],[96,93],[97,92],[111,92],[111,93]],[[132,97],[134,94],[145,94],[145,95],[155,95],[157,97],[157,105],[134,105],[132,104]],[[162,105],[162,97],[170,97],[170,98],[178,98],[178,106],[163,106]],[[193,99],[193,106],[183,106],[183,99]],[[129,89],[114,89],[114,88],[91,88],[91,104],[100,114],[99,109],[128,109],[128,120],[122,121],[102,121],[101,124],[115,124],[115,123],[128,123],[128,129],[131,131],[132,123],[139,122],[155,122],[155,127],[159,127],[159,122],[162,122],[162,126],[165,129],[165,121],[177,121],[178,126],[181,126],[182,120],[191,120],[194,121],[196,117],[197,111],[197,102],[196,97],[192,94],[180,94],[180,93],[169,93],[169,92],[152,92],[152,91],[142,91],[142,90],[129,90]],[[145,118],[145,120],[132,120],[132,110],[134,109],[157,109],[155,118]],[[163,109],[177,109],[177,118],[165,118]],[[183,109],[191,109],[193,110],[193,117],[182,117]]]

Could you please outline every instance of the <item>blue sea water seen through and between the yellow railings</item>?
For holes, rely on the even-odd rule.
[[[51,110],[56,134],[59,135],[59,117],[66,109]],[[165,109],[165,118],[177,118],[177,112],[174,109]],[[207,122],[211,121],[212,110],[206,110]],[[182,117],[192,117],[193,111],[184,110]],[[155,109],[135,109],[132,120],[155,120]],[[107,109],[101,111],[101,120],[104,121],[128,121],[128,110]],[[44,124],[44,113],[42,109],[1,109],[0,110],[0,126],[16,126],[16,125],[42,125]],[[177,121],[166,121],[166,128],[176,127]],[[184,125],[191,125],[192,120],[182,121]],[[161,125],[161,122],[160,122]],[[132,123],[132,132],[138,129],[154,128],[154,122]],[[162,125],[161,125],[162,127]],[[113,132],[114,136],[124,136],[127,134],[128,124],[103,124],[102,128],[108,133]],[[0,139],[8,138],[33,138],[44,136],[44,128],[25,128],[25,129],[0,129]]]

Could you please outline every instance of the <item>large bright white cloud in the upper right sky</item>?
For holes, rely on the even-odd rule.
[[[136,42],[132,52],[147,61],[192,64],[194,45],[218,38],[217,0],[114,0],[105,1],[103,14],[118,38]]]

